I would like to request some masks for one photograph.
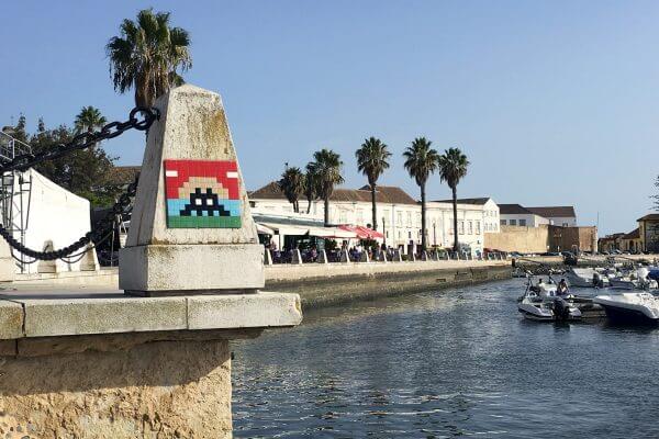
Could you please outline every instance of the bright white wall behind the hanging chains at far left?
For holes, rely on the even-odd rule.
[[[90,230],[89,201],[55,184],[37,171],[30,169],[23,173],[24,179],[32,178],[32,192],[25,233],[25,245],[34,250],[44,250],[47,241],[53,241],[54,249],[66,247],[80,239]],[[18,178],[14,180],[18,189]],[[14,189],[15,190],[15,189]],[[24,213],[27,196],[23,195]],[[20,210],[14,196],[13,218],[19,222]],[[20,239],[20,236],[14,236]],[[18,252],[15,252],[19,256]],[[30,258],[25,258],[30,260]],[[72,258],[78,259],[78,258]],[[79,271],[80,261],[66,263],[56,260],[57,271]],[[26,264],[29,273],[37,272],[40,263]],[[20,269],[16,267],[16,271]]]

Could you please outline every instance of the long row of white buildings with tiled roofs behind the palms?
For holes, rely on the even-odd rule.
[[[376,194],[378,232],[391,247],[406,251],[407,245],[421,243],[421,204],[396,187],[379,185]],[[261,215],[291,215],[293,206],[276,182],[249,193],[252,212]],[[428,246],[450,247],[454,243],[453,204],[431,201],[426,204],[426,243]],[[300,200],[301,218],[322,221],[323,201],[313,201],[308,211],[306,200]],[[371,225],[371,193],[368,187],[336,189],[330,201],[332,224]],[[472,251],[483,249],[485,232],[499,232],[499,207],[491,199],[458,200],[458,238]]]

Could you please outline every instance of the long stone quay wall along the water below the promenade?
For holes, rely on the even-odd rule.
[[[303,309],[510,279],[511,261],[306,263],[266,267],[266,289],[298,293]]]

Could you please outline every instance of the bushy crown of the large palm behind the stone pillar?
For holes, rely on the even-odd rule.
[[[190,37],[169,25],[169,12],[145,9],[135,21],[124,20],[120,36],[105,46],[114,90],[135,89],[135,105],[152,106],[161,94],[183,80],[180,72],[192,67]]]

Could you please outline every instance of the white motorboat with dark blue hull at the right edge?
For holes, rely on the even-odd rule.
[[[648,292],[597,295],[593,302],[601,305],[612,320],[639,325],[659,323],[659,299]]]

